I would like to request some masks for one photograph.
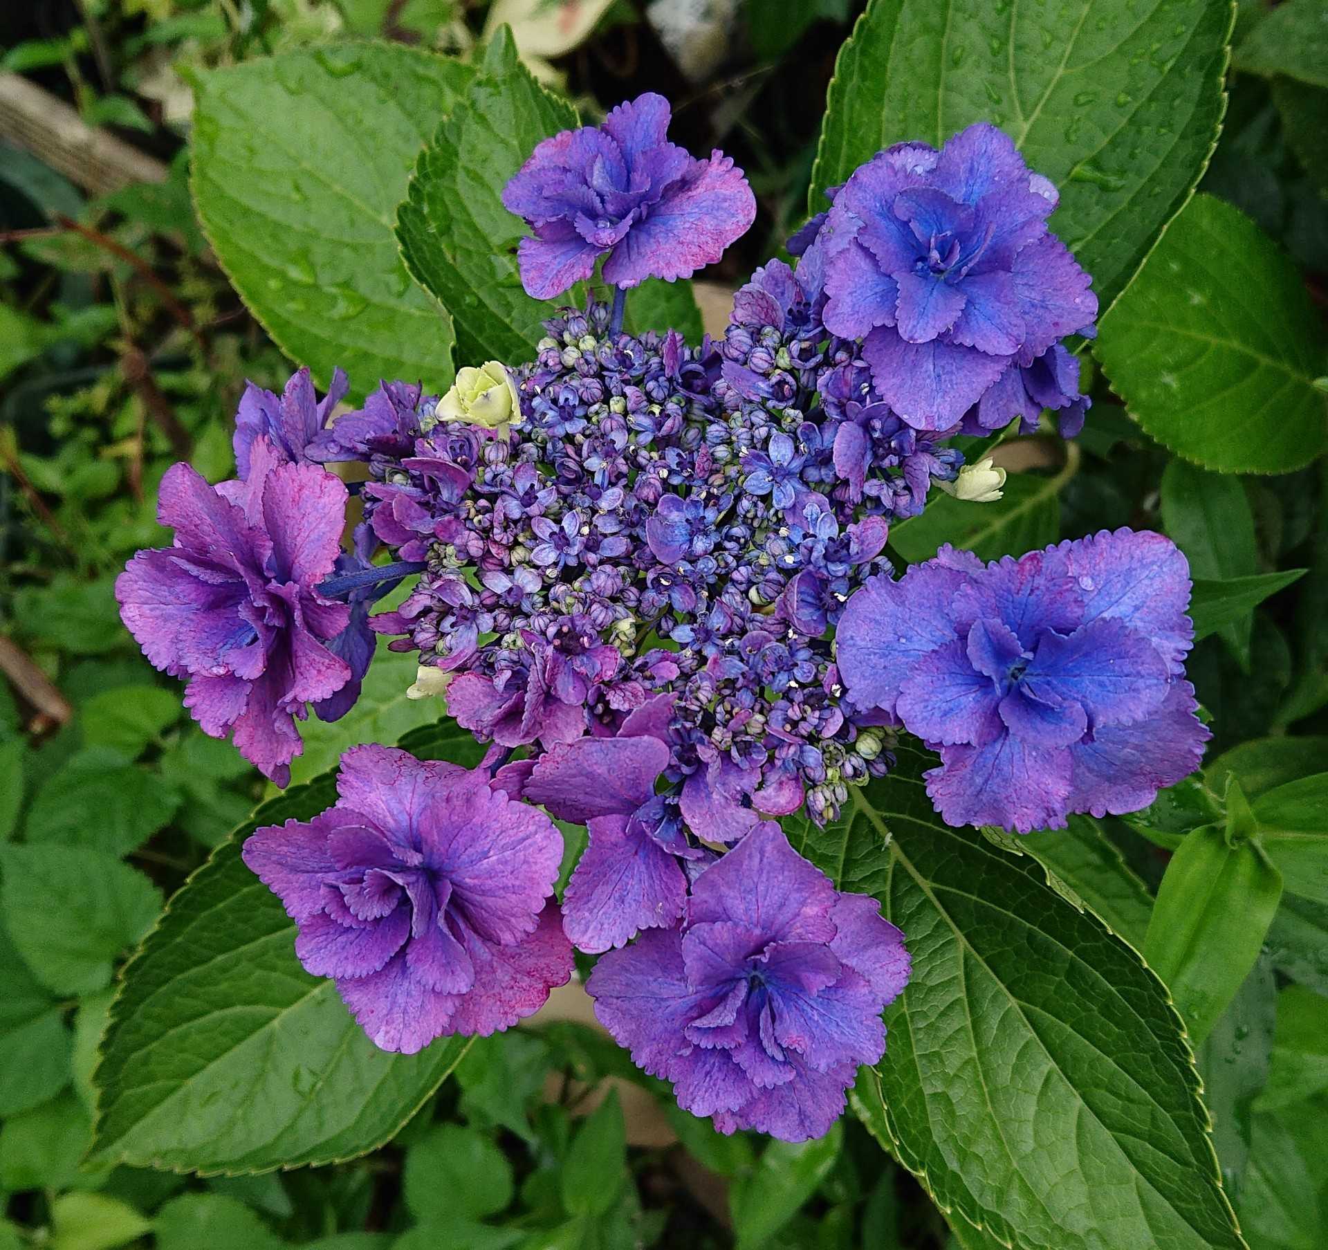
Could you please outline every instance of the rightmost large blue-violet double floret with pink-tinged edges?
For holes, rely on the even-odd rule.
[[[948,824],[1060,829],[1145,808],[1198,768],[1189,603],[1161,534],[1102,530],[985,566],[943,547],[858,591],[839,673],[940,752],[927,792]]]

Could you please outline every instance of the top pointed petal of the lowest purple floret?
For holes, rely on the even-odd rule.
[[[829,942],[835,889],[773,821],[753,829],[692,887],[689,925],[737,921],[772,942]]]

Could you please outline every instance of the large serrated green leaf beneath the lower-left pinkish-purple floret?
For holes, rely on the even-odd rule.
[[[410,747],[463,762],[477,753],[456,727],[417,733]],[[125,968],[94,1073],[100,1158],[235,1173],[363,1154],[465,1052],[459,1037],[418,1055],[377,1049],[333,983],[300,967],[295,926],[240,859],[259,825],[308,820],[335,797],[324,774],[260,806]]]

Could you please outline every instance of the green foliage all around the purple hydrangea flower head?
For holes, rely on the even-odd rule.
[[[562,45],[538,0],[0,17],[5,72],[165,174],[93,194],[0,147],[0,1250],[1323,1245],[1328,8],[748,0],[709,5],[709,53],[657,8],[583,4]],[[790,824],[915,967],[854,1115],[802,1146],[720,1137],[584,1022],[374,1051],[238,840],[324,806],[353,741],[474,744],[384,652],[274,797],[112,599],[166,539],[166,466],[230,473],[244,377],[441,389],[527,355],[546,310],[498,190],[648,88],[757,191],[704,275],[729,290],[878,146],[1004,125],[1096,278],[1094,408],[1074,446],[1001,448],[999,503],[940,497],[892,547],[1151,526],[1195,577],[1214,741],[1146,812],[954,830],[900,751],[837,825]],[[628,316],[700,333],[689,284]]]

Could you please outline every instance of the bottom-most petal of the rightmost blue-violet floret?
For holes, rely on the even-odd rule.
[[[924,776],[947,825],[1064,829],[1070,752],[1041,751],[1003,733],[981,747],[943,747],[942,768]]]

